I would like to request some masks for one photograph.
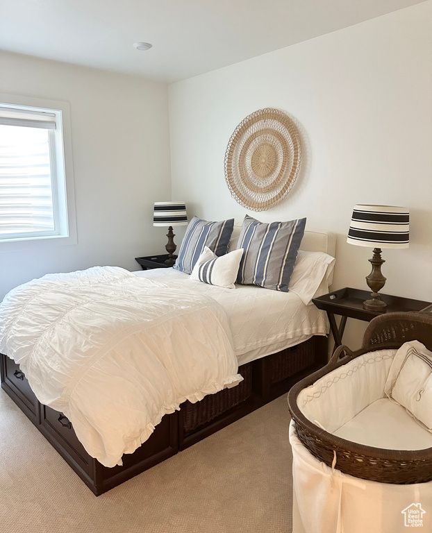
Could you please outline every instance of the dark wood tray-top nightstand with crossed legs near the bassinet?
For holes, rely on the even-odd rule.
[[[342,344],[342,336],[344,335],[345,324],[347,318],[371,321],[375,316],[381,313],[375,311],[368,311],[363,309],[363,301],[369,298],[370,291],[360,291],[360,289],[351,289],[345,287],[338,291],[329,292],[319,298],[313,298],[313,303],[326,311],[329,317],[330,328],[335,339],[335,347],[333,351]],[[424,302],[421,300],[413,300],[411,298],[402,298],[401,296],[390,296],[389,294],[381,294],[381,299],[387,304],[387,312],[393,313],[396,311],[430,311],[431,302]],[[336,324],[335,314],[341,316],[339,327]]]

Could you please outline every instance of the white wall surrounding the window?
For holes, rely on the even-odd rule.
[[[167,86],[0,52],[0,93],[70,103],[78,244],[1,251],[0,301],[19,283],[48,272],[162,253],[153,202],[171,196]],[[165,230],[165,231],[164,231]]]

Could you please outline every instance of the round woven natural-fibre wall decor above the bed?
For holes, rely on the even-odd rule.
[[[294,122],[278,109],[260,109],[235,128],[225,153],[225,178],[240,205],[265,211],[291,190],[301,145]]]

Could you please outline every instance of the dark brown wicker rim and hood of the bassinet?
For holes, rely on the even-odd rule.
[[[332,466],[336,453],[335,468],[363,480],[394,484],[432,480],[432,448],[388,450],[348,441],[319,428],[304,416],[297,405],[301,390],[355,357],[375,350],[399,348],[413,340],[432,350],[432,314],[399,312],[377,316],[369,323],[360,350],[353,353],[347,346],[340,346],[329,364],[292,387],[288,394],[288,407],[297,436],[310,453],[327,466]]]

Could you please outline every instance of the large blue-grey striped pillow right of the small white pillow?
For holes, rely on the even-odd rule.
[[[237,282],[288,292],[306,219],[263,223],[244,217],[237,248],[244,253]]]

